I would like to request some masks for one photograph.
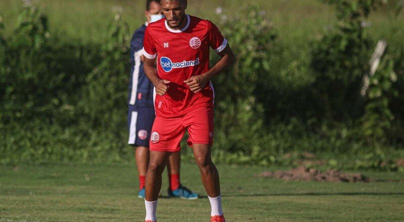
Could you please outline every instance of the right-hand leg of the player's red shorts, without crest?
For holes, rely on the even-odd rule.
[[[193,144],[213,144],[214,123],[213,109],[200,107],[189,112],[184,117],[184,124],[188,129],[188,145]]]

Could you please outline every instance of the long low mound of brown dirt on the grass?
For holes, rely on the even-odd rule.
[[[369,182],[370,179],[361,173],[341,173],[338,170],[327,170],[322,173],[320,170],[306,167],[298,167],[291,170],[278,170],[275,172],[262,172],[258,176],[273,177],[277,179],[302,180],[302,181],[326,181],[326,182]]]

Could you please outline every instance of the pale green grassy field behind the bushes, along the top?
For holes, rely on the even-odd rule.
[[[129,24],[131,31],[144,22],[144,0],[33,0],[34,5],[45,10],[49,16],[50,29],[53,34],[81,39],[83,41],[100,41],[105,35],[106,27],[113,17],[115,7],[122,9],[123,19]],[[403,13],[394,20],[392,14],[396,0],[373,13],[369,21],[372,23],[371,34],[375,39],[384,38],[393,45],[402,46]],[[16,24],[23,1],[0,1],[0,15],[4,17],[6,31],[10,35]],[[294,47],[307,49],[308,40],[318,37],[325,26],[334,23],[335,16],[331,7],[318,0],[192,0],[188,1],[187,13],[217,22],[219,17],[215,11],[223,8],[227,15],[238,15],[248,4],[256,4],[271,19],[280,31],[282,41]],[[393,28],[397,34],[392,36]]]

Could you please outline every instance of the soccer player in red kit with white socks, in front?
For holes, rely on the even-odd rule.
[[[148,25],[143,48],[143,69],[155,87],[156,111],[145,181],[145,220],[157,220],[161,173],[168,154],[180,150],[188,130],[188,145],[211,202],[211,221],[225,221],[219,173],[211,158],[215,94],[210,79],[231,65],[234,55],[212,22],[185,14],[186,0],[161,0],[161,7],[165,19]],[[210,48],[222,57],[212,68]]]

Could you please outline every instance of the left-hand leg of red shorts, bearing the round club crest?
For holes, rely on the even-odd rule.
[[[150,136],[150,151],[177,152],[185,133],[181,117],[156,117]]]

